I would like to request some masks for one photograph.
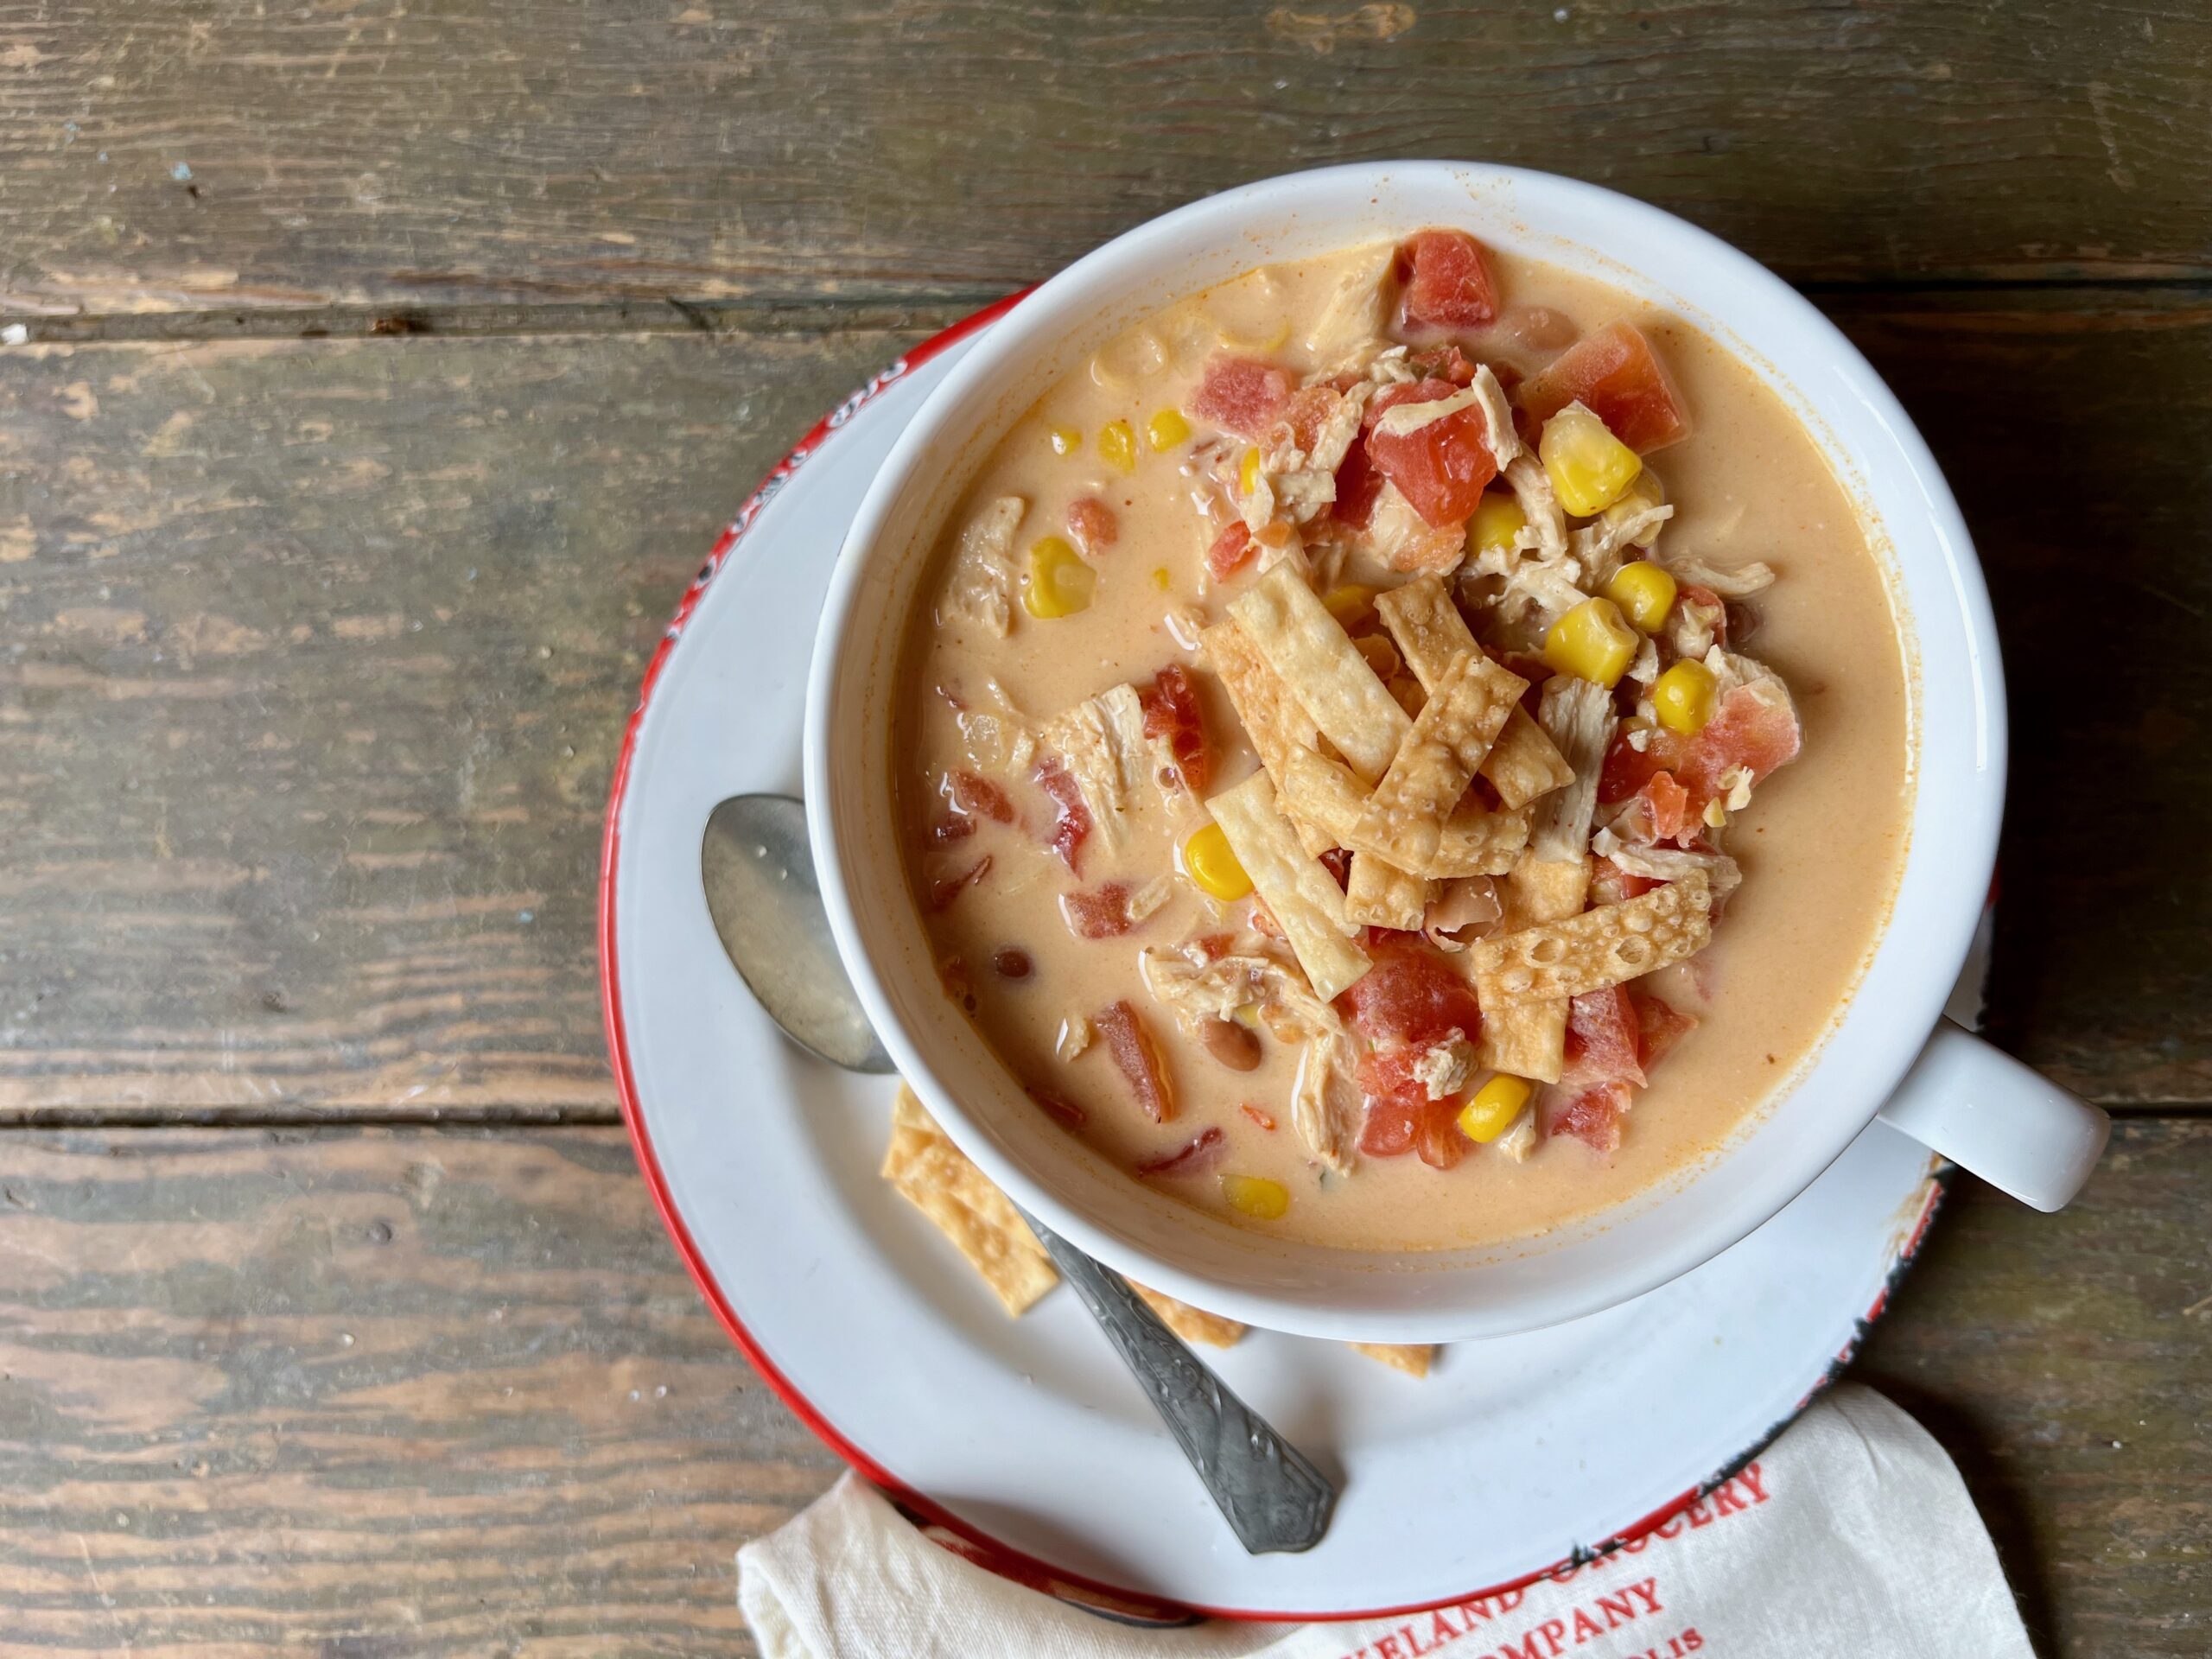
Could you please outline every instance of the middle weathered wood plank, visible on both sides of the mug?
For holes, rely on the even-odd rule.
[[[1838,314],[2006,628],[1997,1035],[2203,1104],[2212,307],[2106,299]],[[593,876],[644,655],[907,338],[0,354],[0,1110],[604,1117]]]

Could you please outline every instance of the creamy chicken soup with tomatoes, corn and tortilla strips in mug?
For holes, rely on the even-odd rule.
[[[1128,330],[945,526],[898,794],[1037,1110],[1241,1225],[1542,1232],[1816,1046],[1905,856],[1907,677],[1756,376],[1462,232]]]

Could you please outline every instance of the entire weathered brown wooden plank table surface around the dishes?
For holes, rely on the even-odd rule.
[[[0,1650],[750,1652],[834,1458],[617,1126],[597,830],[717,526],[1208,190],[1610,184],[1898,387],[2013,686],[1991,1024],[2119,1115],[1858,1374],[2046,1655],[2212,1648],[2212,13],[0,0]]]

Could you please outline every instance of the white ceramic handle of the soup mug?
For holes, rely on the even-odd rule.
[[[2064,1210],[2097,1168],[2112,1119],[1940,1020],[1880,1119],[2037,1210]]]

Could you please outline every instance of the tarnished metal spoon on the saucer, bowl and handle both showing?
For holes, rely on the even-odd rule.
[[[721,947],[768,1018],[834,1066],[891,1071],[830,938],[805,807],[787,794],[730,796],[706,821],[699,872]],[[1336,1506],[1327,1478],[1206,1369],[1128,1281],[1026,1210],[1022,1214],[1245,1551],[1267,1555],[1318,1544]]]

